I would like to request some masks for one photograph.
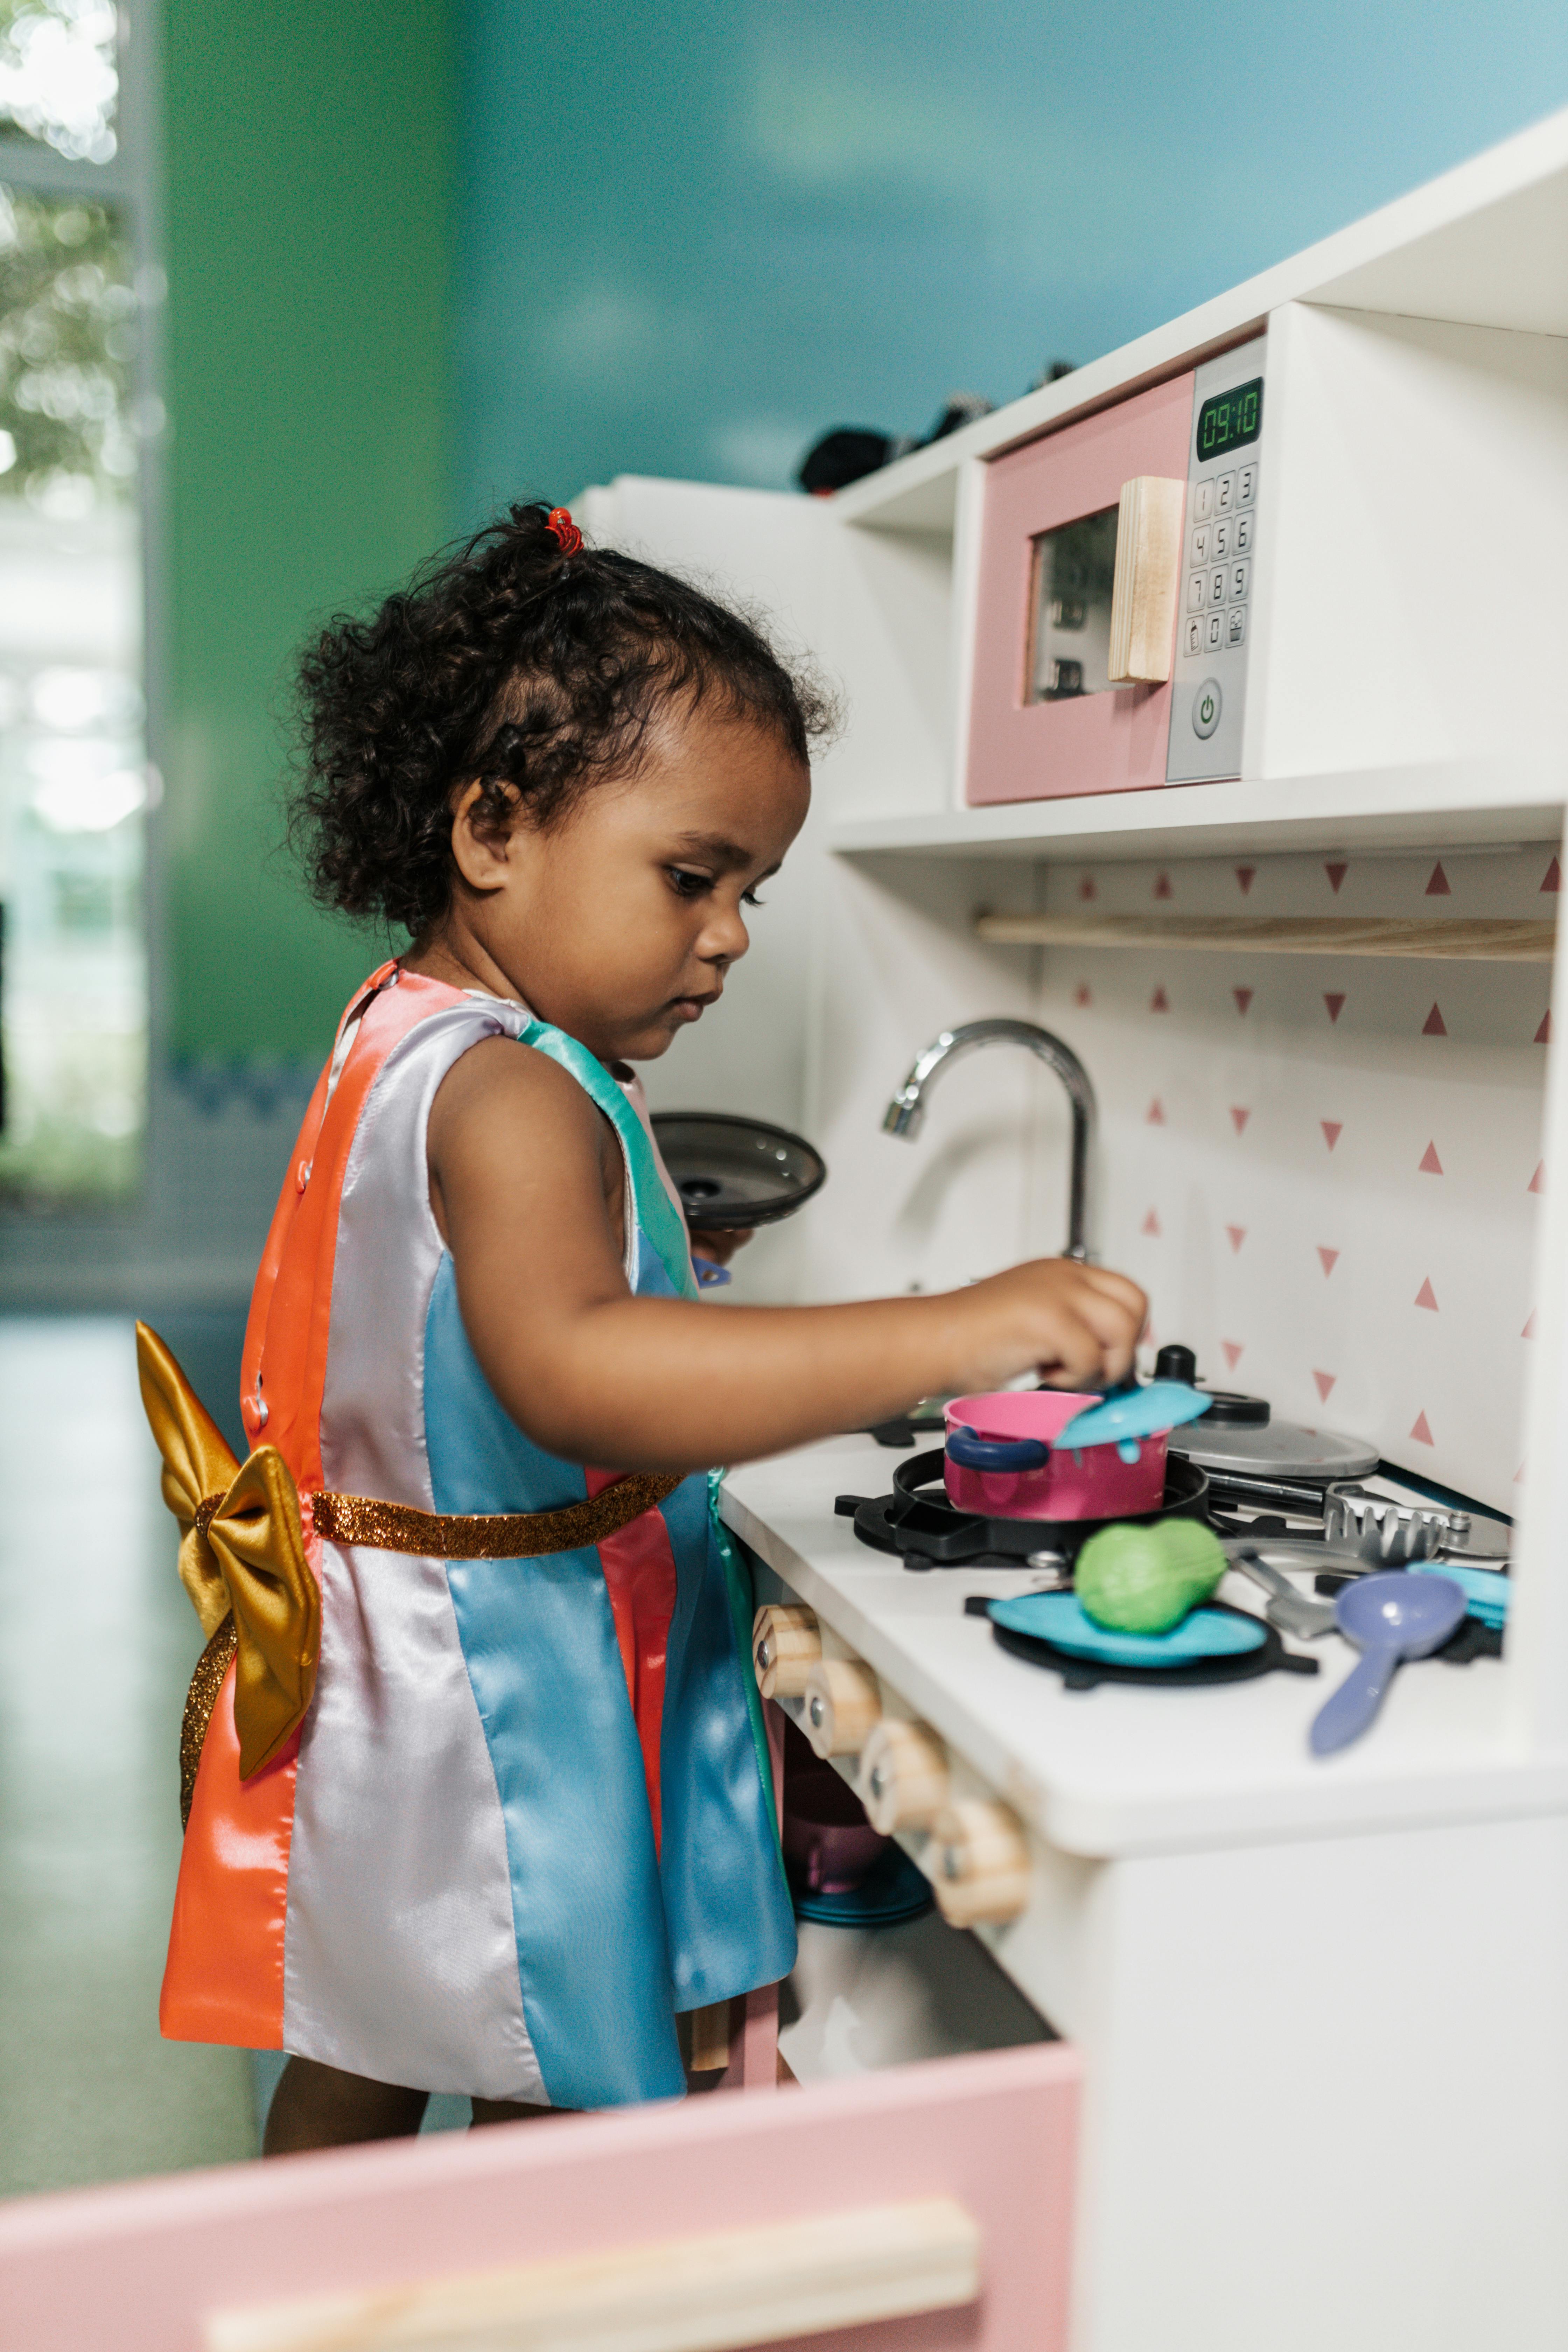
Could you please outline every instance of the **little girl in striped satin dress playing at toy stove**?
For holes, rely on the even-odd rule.
[[[724,993],[820,727],[736,614],[512,508],[334,623],[303,706],[313,887],[411,948],[339,1025],[244,1341],[303,1630],[266,1585],[186,1722],[162,2027],[292,2053],[268,2152],[416,2131],[430,2091],[477,2122],[679,2093],[677,2013],[795,1957],[708,1465],[1119,1381],[1145,1305],[1065,1261],[698,1305],[630,1065]],[[186,1548],[242,1479],[181,1505]]]

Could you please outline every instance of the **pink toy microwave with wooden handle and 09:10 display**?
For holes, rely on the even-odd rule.
[[[1241,774],[1267,336],[999,456],[971,804]]]

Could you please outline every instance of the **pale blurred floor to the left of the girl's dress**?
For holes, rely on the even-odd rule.
[[[247,2056],[158,2034],[200,1646],[129,1322],[0,1322],[2,2194],[254,2154]]]

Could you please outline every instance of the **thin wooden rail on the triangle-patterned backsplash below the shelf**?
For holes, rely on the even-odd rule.
[[[1251,955],[1415,955],[1549,964],[1556,922],[1432,915],[976,915],[997,948],[1246,948]]]

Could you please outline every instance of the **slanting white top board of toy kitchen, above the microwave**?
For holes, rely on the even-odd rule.
[[[1121,400],[1255,334],[1288,301],[1568,334],[1568,108],[1058,383],[914,449],[830,501],[842,522],[952,532],[966,459]]]

